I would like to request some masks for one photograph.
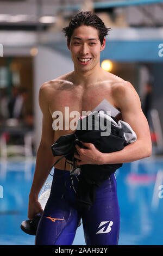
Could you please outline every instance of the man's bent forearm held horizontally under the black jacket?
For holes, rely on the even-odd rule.
[[[129,163],[151,155],[151,147],[145,147],[141,141],[133,142],[120,151],[102,153],[102,164]]]

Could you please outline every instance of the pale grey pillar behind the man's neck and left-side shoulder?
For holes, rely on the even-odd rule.
[[[39,52],[34,57],[34,144],[37,151],[42,131],[42,112],[39,107],[39,89],[42,83],[53,80],[74,70],[71,57],[65,57],[52,48],[39,46]],[[55,95],[54,95],[55,97]],[[55,98],[54,98],[55,100]]]

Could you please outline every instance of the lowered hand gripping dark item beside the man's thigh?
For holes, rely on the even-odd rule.
[[[29,199],[28,204],[28,218],[29,220],[32,220],[32,218],[37,214],[42,214],[43,210],[41,207],[41,204],[38,200]]]

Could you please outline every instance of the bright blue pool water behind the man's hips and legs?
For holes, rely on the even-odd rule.
[[[34,245],[24,233],[35,159],[0,160],[0,245]],[[116,171],[121,209],[119,245],[162,245],[163,158],[125,163]],[[162,187],[161,187],[162,186]],[[85,245],[82,225],[73,245]]]

